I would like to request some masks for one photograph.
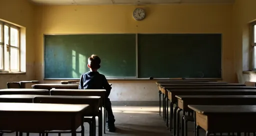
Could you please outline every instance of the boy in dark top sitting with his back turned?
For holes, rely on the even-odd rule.
[[[106,77],[103,74],[100,74],[97,69],[100,67],[100,58],[97,55],[92,54],[88,58],[88,68],[89,72],[83,73],[80,78],[80,83],[78,89],[105,89],[106,90],[106,101],[105,109],[107,111],[107,130],[110,132],[115,131],[114,126],[114,115],[111,108],[111,102],[108,98],[110,94],[111,86],[108,84]]]

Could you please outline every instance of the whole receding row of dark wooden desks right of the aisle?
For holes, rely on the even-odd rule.
[[[172,128],[173,122],[173,135],[179,135],[179,112],[183,110],[181,120],[181,135],[185,135],[187,130],[186,121],[194,121],[194,130],[202,127],[206,131],[206,135],[214,132],[254,132],[248,131],[248,129],[224,129],[223,126],[217,125],[216,120],[208,120],[208,116],[202,119],[203,112],[209,112],[210,107],[208,105],[233,105],[241,106],[244,104],[253,105],[256,101],[256,87],[245,86],[238,83],[216,82],[207,80],[170,80],[170,81],[158,81],[156,82],[159,90],[159,115],[161,113],[161,97],[163,94],[163,119],[166,122],[166,126]],[[246,100],[245,100],[246,99]],[[168,101],[170,101],[170,117],[168,120]],[[240,102],[242,101],[242,102]],[[173,107],[175,106],[174,110]],[[200,107],[202,105],[202,107]],[[217,106],[216,106],[217,107]],[[230,106],[227,106],[227,108]],[[206,108],[206,109],[205,109]],[[218,109],[218,108],[215,108]],[[224,108],[225,109],[225,108]],[[185,115],[186,112],[194,112],[194,116],[190,113]],[[212,111],[213,112],[213,111]],[[211,113],[212,113],[211,112]],[[199,121],[194,118],[199,118]],[[172,120],[173,119],[173,120]],[[230,119],[230,118],[229,118]],[[233,118],[235,120],[235,118]],[[185,120],[185,121],[184,121]],[[170,122],[170,123],[169,123]],[[168,125],[169,123],[169,125]],[[185,123],[185,124],[184,124]],[[219,122],[220,123],[220,122]],[[228,122],[230,123],[230,122]],[[224,123],[223,123],[224,124]],[[233,123],[236,124],[236,123]],[[201,126],[202,125],[202,126]],[[196,127],[197,126],[197,127]],[[215,127],[213,127],[215,126]],[[231,125],[232,126],[232,125]],[[213,129],[214,128],[214,129]],[[219,128],[219,129],[217,129]],[[221,130],[221,129],[222,130]],[[234,127],[236,128],[236,127]],[[195,131],[195,135],[197,134]]]

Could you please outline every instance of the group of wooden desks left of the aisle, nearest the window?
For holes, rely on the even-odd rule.
[[[62,101],[64,103],[72,103],[72,104],[79,104],[79,103],[86,103],[86,104],[79,104],[81,108],[76,108],[74,107],[74,109],[77,109],[77,111],[71,111],[73,109],[70,109],[70,111],[67,109],[63,110],[59,109],[59,108],[51,108],[49,106],[48,109],[41,108],[41,110],[39,111],[40,113],[44,113],[44,115],[42,114],[33,114],[35,117],[36,115],[38,115],[37,120],[38,119],[43,119],[43,118],[51,118],[50,114],[52,113],[56,115],[59,114],[61,116],[61,114],[66,114],[67,116],[62,116],[63,118],[67,117],[70,119],[65,119],[68,120],[69,123],[67,122],[61,122],[62,119],[55,119],[55,123],[52,122],[52,120],[54,120],[53,118],[51,118],[52,120],[49,121],[49,119],[45,119],[48,120],[48,123],[54,124],[54,125],[48,125],[47,127],[44,125],[41,125],[40,122],[42,122],[43,124],[47,124],[45,121],[33,121],[33,123],[26,121],[27,123],[25,123],[26,126],[22,126],[21,124],[24,123],[26,119],[29,120],[29,115],[28,116],[19,116],[20,117],[20,121],[18,121],[17,119],[16,121],[20,122],[21,124],[17,124],[17,126],[15,125],[8,125],[10,127],[2,127],[0,126],[0,130],[12,130],[12,131],[21,131],[21,132],[42,132],[42,130],[63,130],[63,129],[68,129],[71,130],[70,132],[72,133],[72,135],[75,135],[76,132],[74,132],[74,130],[78,127],[81,126],[82,130],[80,131],[81,134],[83,135],[84,133],[84,128],[83,128],[83,121],[82,124],[81,119],[77,119],[77,117],[74,117],[75,114],[77,114],[78,116],[80,116],[80,118],[83,118],[83,116],[92,116],[94,117],[95,120],[95,116],[98,116],[98,135],[102,135],[102,106],[104,105],[104,99],[105,99],[105,90],[104,89],[79,89],[78,90],[78,84],[53,84],[53,83],[47,83],[47,84],[33,84],[32,85],[33,88],[31,89],[27,89],[27,88],[20,88],[20,89],[13,89],[13,88],[8,88],[8,89],[0,89],[0,104],[2,104],[2,106],[6,106],[8,107],[10,104],[16,104],[16,106],[18,105],[22,105],[23,102],[27,103],[28,105],[26,106],[22,106],[21,108],[16,108],[16,106],[10,106],[10,108],[8,110],[5,110],[3,108],[3,110],[0,109],[0,114],[1,111],[8,111],[8,112],[12,112],[12,114],[15,114],[16,116],[19,116],[20,112],[29,112],[29,115],[33,114],[34,112],[37,112],[38,109],[34,108],[33,106],[29,105],[29,104],[37,104],[37,107],[40,106],[44,106],[44,104],[48,104],[48,105],[52,105],[54,106],[56,103],[60,104],[61,103],[61,99],[65,99],[65,101]],[[97,102],[93,102],[92,101],[92,97],[95,96],[99,96],[99,107],[97,107],[95,104],[97,104]],[[94,98],[95,99],[95,98]],[[79,101],[80,100],[80,101]],[[73,103],[74,101],[78,102],[78,103]],[[11,103],[9,103],[11,102]],[[15,102],[15,103],[13,103]],[[22,104],[20,104],[22,103]],[[54,104],[53,104],[54,103]],[[42,105],[41,105],[42,104]],[[65,104],[63,104],[65,105]],[[70,106],[70,105],[69,105]],[[82,109],[83,107],[83,109]],[[1,108],[1,105],[0,105]],[[98,110],[100,108],[100,110]],[[94,113],[92,113],[91,111],[94,111]],[[100,111],[100,112],[98,112]],[[74,113],[75,112],[75,113]],[[31,114],[30,114],[31,113]],[[82,117],[81,117],[82,114]],[[23,115],[23,114],[21,114]],[[45,116],[46,115],[46,116]],[[105,110],[104,110],[104,115],[105,115]],[[40,117],[39,117],[40,116]],[[26,119],[24,119],[26,118]],[[79,117],[78,117],[79,118]],[[23,120],[22,120],[23,119]],[[88,118],[87,118],[88,119]],[[93,118],[92,118],[93,119]],[[105,133],[105,116],[104,116],[104,133]],[[3,124],[8,124],[7,120],[5,119],[6,122],[4,122]],[[60,121],[59,121],[60,120]],[[78,121],[77,121],[78,120]],[[86,119],[85,119],[86,120]],[[56,125],[56,123],[58,122],[58,125]],[[74,121],[76,124],[74,124]],[[34,126],[40,126],[40,129],[36,129],[36,127],[30,127],[30,125],[37,123]],[[44,123],[45,122],[45,123]],[[13,123],[13,122],[12,122]],[[64,125],[64,124],[70,124],[69,126]],[[72,124],[72,125],[71,125]],[[79,124],[79,125],[78,125]],[[62,125],[62,126],[61,126]],[[93,123],[93,125],[95,126],[95,122]],[[51,127],[52,126],[52,127]],[[53,127],[56,126],[56,127]],[[61,129],[60,129],[61,127]],[[31,128],[31,129],[28,129]],[[39,127],[38,127],[39,128]],[[90,127],[90,132],[93,131],[94,133],[92,133],[92,135],[95,135],[95,128],[94,127]]]

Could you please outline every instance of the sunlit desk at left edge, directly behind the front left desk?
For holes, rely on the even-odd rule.
[[[33,98],[41,95],[31,94],[4,94],[0,95],[0,102],[25,102],[33,103]]]

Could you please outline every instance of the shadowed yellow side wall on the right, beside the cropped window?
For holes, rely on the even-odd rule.
[[[233,4],[232,33],[234,45],[234,67],[239,82],[256,81],[255,72],[242,73],[249,70],[249,25],[256,19],[256,0],[235,0]]]

